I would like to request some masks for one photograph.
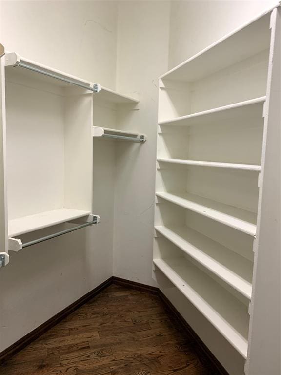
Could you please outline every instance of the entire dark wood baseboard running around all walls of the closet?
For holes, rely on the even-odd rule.
[[[201,361],[209,367],[210,373],[213,375],[229,375],[228,372],[224,369],[221,363],[217,358],[210,352],[207,346],[203,343],[201,338],[195,333],[195,331],[189,326],[185,319],[181,316],[180,312],[172,305],[168,298],[161,292],[157,287],[152,287],[150,285],[145,285],[137,283],[135,281],[130,281],[122,279],[120,277],[112,276],[109,279],[105,280],[99,286],[94,288],[92,291],[86,293],[77,301],[73,302],[71,305],[58,312],[52,318],[48,319],[45,323],[41,324],[35,330],[27,333],[25,336],[20,338],[14,344],[9,346],[7,349],[0,353],[0,363],[3,363],[10,359],[13,355],[17,354],[24,347],[29,345],[31,342],[40,337],[43,333],[47,332],[49,329],[54,327],[66,316],[79,309],[82,305],[88,302],[95,295],[102,292],[104,289],[109,287],[111,284],[120,285],[126,288],[135,289],[141,292],[156,294],[161,298],[166,310],[175,318],[178,324],[181,326],[182,330],[186,335],[192,340],[194,349],[197,352],[197,355],[200,357]]]

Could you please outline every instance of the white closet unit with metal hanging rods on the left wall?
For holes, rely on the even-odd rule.
[[[8,189],[7,197],[3,194],[7,207],[4,238],[6,249],[18,251],[30,245],[15,236],[66,222],[82,223],[77,228],[99,222],[99,216],[92,215],[96,206],[92,201],[96,192],[93,137],[134,142],[146,138],[108,128],[117,121],[118,108],[135,110],[137,99],[16,53],[2,55],[1,83],[6,85],[3,126],[7,129],[4,181]],[[114,116],[108,115],[111,111]]]

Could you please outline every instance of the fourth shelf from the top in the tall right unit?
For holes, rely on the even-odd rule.
[[[229,206],[194,194],[157,192],[156,195],[178,206],[190,209],[224,225],[256,236],[257,215],[253,212]]]

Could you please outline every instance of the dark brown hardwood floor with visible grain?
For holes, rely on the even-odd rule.
[[[0,375],[215,375],[161,299],[111,285],[0,366]]]

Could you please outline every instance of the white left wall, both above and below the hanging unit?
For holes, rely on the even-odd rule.
[[[6,50],[115,88],[115,1],[4,1],[0,27]],[[103,225],[10,252],[0,271],[0,351],[112,275],[113,233]]]

